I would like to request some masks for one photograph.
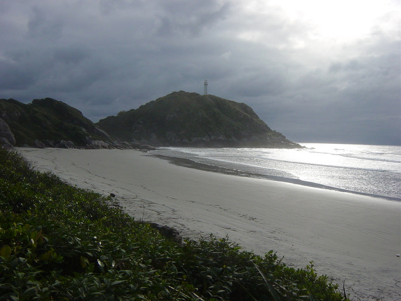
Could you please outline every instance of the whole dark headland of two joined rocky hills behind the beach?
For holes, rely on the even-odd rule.
[[[52,99],[0,99],[0,146],[139,148],[153,146],[300,148],[244,103],[173,92],[93,123]]]

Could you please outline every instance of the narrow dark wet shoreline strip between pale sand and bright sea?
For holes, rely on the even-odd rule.
[[[401,202],[401,198],[396,198],[396,197],[381,196],[381,195],[375,195],[374,193],[347,190],[347,189],[323,185],[323,184],[319,184],[319,183],[303,181],[303,180],[299,180],[299,179],[253,174],[253,173],[249,173],[247,171],[239,171],[239,170],[229,169],[229,168],[225,168],[225,167],[209,165],[209,164],[205,164],[205,163],[199,163],[199,162],[192,161],[191,159],[187,159],[187,158],[179,158],[179,157],[172,157],[172,156],[152,154],[152,153],[148,153],[148,154],[149,154],[149,156],[154,156],[154,157],[157,157],[157,158],[160,158],[163,160],[168,160],[170,163],[175,164],[177,166],[184,166],[184,167],[194,168],[194,169],[198,169],[198,170],[211,171],[213,173],[292,183],[292,184],[296,184],[296,185],[315,187],[315,188],[320,188],[320,189],[335,190],[335,191],[340,191],[340,192],[348,192],[348,193],[354,193],[355,195],[373,197],[373,198],[378,198],[378,199],[385,199],[388,201]]]

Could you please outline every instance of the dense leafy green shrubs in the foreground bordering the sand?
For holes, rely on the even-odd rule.
[[[0,148],[0,300],[346,300],[313,264],[177,245],[110,202]]]

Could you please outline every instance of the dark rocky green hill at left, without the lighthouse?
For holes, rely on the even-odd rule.
[[[0,145],[102,148],[114,140],[74,107],[52,98],[0,99]]]

